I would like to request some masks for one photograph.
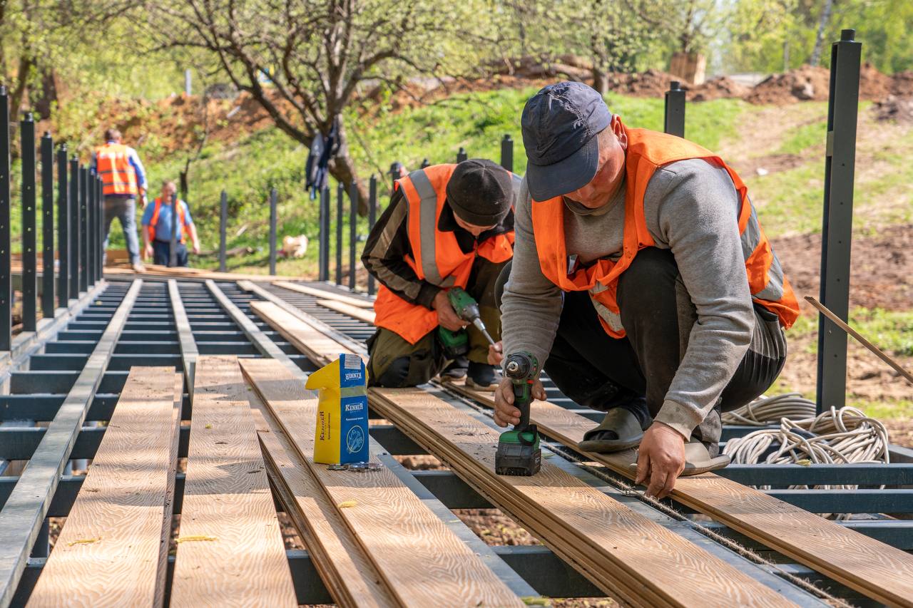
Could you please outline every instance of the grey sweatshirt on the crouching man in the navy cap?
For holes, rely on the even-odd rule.
[[[561,289],[542,274],[524,180],[516,215],[513,267],[501,305],[504,351],[530,351],[545,362],[561,315]],[[745,352],[785,356],[782,330],[755,331],[738,225],[739,194],[722,168],[695,159],[654,173],[645,193],[646,226],[656,246],[671,249],[698,313],[687,351],[656,420],[685,437],[716,404]],[[582,263],[621,255],[624,184],[598,209],[564,208],[568,255]],[[758,336],[752,334],[763,333]],[[754,339],[753,339],[754,338]]]

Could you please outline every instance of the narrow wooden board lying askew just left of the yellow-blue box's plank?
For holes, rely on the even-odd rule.
[[[257,395],[250,404],[273,487],[333,599],[342,608],[398,605],[289,437]]]

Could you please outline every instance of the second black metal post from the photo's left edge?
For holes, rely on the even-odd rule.
[[[35,119],[31,112],[19,123],[22,153],[22,330],[37,330],[38,254],[35,210]]]

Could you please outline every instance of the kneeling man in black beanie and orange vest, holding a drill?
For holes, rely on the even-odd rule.
[[[493,389],[497,372],[488,341],[467,327],[466,358],[450,359],[438,326],[467,326],[447,299],[461,287],[479,304],[488,332],[499,340],[494,286],[513,254],[511,206],[519,178],[495,162],[470,159],[408,173],[394,183],[389,206],[374,225],[362,263],[381,283],[368,341],[370,383],[415,386],[445,371],[467,384]]]

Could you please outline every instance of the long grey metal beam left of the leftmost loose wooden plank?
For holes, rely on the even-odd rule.
[[[89,361],[79,373],[76,383],[47,427],[35,455],[13,492],[0,511],[0,607],[12,601],[16,585],[26,567],[29,551],[37,538],[38,529],[45,519],[47,507],[60,474],[67,464],[70,451],[76,442],[79,428],[86,419],[89,404],[108,368],[114,345],[121,336],[127,316],[140,293],[142,280],[133,281],[121,305],[114,312],[108,327],[101,334]]]

